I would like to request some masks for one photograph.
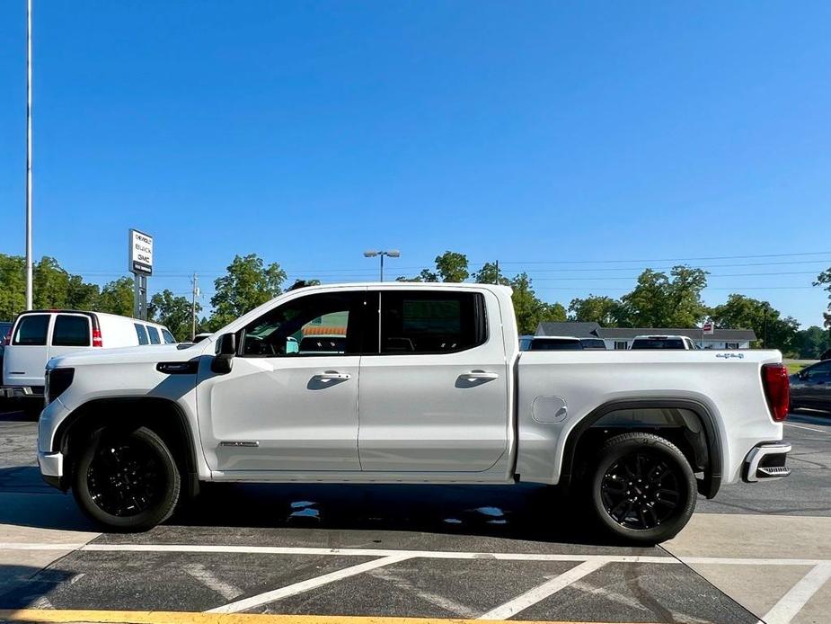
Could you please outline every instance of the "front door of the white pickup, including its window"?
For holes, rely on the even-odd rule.
[[[366,294],[312,293],[270,309],[241,330],[226,374],[212,372],[212,358],[202,358],[199,436],[209,468],[232,478],[246,471],[360,470]],[[325,339],[305,339],[311,336]]]

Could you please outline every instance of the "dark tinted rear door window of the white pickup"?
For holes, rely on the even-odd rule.
[[[478,292],[381,293],[381,353],[449,353],[488,339]]]

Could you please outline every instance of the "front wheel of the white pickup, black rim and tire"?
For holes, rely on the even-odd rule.
[[[164,441],[146,427],[93,432],[75,463],[75,501],[112,530],[148,530],[173,513],[181,476]]]

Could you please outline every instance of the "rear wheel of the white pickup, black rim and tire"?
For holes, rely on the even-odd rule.
[[[586,485],[601,528],[630,542],[675,537],[695,509],[693,468],[676,445],[652,433],[623,433],[606,441]]]

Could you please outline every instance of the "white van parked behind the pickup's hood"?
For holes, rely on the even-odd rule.
[[[42,396],[46,363],[88,349],[175,343],[163,325],[79,310],[22,312],[5,336],[0,397]]]

